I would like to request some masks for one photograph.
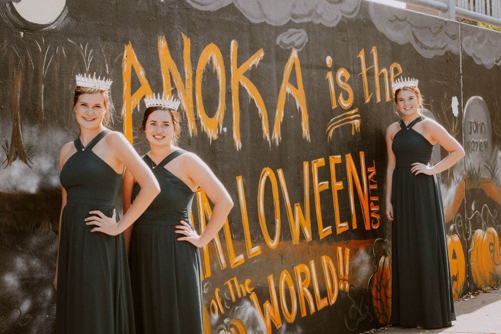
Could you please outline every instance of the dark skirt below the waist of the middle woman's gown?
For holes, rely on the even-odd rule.
[[[129,266],[138,333],[203,332],[200,254],[176,240],[178,221],[134,224]]]

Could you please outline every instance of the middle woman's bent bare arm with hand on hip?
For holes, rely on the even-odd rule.
[[[186,240],[197,247],[203,247],[209,243],[221,229],[229,211],[233,207],[233,201],[210,168],[196,155],[191,153],[187,154],[189,154],[189,159],[185,160],[187,176],[202,188],[207,194],[207,197],[214,203],[214,207],[207,227],[200,236],[198,236],[196,232],[191,231],[188,227],[189,225],[186,223],[177,225],[176,227],[178,229],[175,232],[185,235],[179,237],[177,240]]]

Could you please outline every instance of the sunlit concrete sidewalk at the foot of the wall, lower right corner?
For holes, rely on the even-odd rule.
[[[501,289],[480,293],[473,299],[455,304],[456,318],[452,327],[417,329],[409,327],[382,328],[377,333],[496,333],[501,334]]]

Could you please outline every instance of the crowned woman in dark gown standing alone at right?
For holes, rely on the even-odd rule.
[[[455,320],[442,197],[435,174],[464,156],[461,145],[419,113],[415,79],[393,85],[402,114],[386,129],[386,217],[392,224],[392,324],[441,328]],[[434,166],[433,145],[447,156]]]

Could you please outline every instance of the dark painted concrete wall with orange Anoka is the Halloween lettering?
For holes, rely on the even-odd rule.
[[[501,282],[501,35],[360,1],[0,2],[0,331],[54,330],[60,147],[74,77],[113,79],[112,127],[181,101],[181,146],[235,206],[202,249],[207,328],[359,332],[391,312],[391,81],[467,156],[440,175],[455,297]],[[436,150],[434,159],[444,152]],[[210,203],[197,192],[197,229]]]

